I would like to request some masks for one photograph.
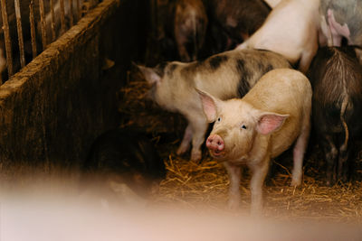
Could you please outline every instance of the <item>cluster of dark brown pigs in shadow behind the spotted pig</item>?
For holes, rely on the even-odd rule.
[[[156,1],[156,38],[163,59],[197,60],[229,51],[262,26],[262,0]]]

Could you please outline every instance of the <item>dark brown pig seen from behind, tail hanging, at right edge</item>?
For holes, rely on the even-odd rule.
[[[310,66],[313,126],[327,162],[327,184],[348,180],[348,155],[362,125],[362,67],[353,47],[319,49]]]

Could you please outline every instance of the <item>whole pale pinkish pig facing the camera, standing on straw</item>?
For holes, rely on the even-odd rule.
[[[206,146],[224,162],[230,178],[229,207],[241,202],[241,165],[252,171],[252,214],[262,210],[262,183],[271,158],[294,146],[292,186],[302,176],[310,134],[310,81],[297,70],[271,70],[243,97],[226,101],[198,90],[208,122],[214,128]]]

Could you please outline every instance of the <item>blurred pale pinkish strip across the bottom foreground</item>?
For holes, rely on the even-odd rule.
[[[359,240],[357,224],[250,218],[176,204],[112,202],[47,185],[2,195],[0,240]]]

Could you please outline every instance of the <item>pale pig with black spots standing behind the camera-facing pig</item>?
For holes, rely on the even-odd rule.
[[[291,68],[281,55],[271,51],[225,51],[206,60],[177,61],[156,68],[138,66],[152,85],[151,96],[160,107],[181,113],[188,125],[177,154],[186,153],[192,141],[191,160],[201,159],[207,121],[195,88],[214,97],[243,97],[262,75],[276,68]]]

